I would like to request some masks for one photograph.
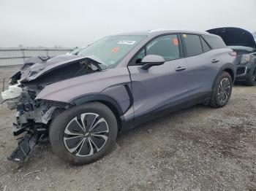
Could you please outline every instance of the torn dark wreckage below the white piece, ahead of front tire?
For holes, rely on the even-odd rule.
[[[24,96],[25,95],[25,96]],[[12,152],[8,157],[9,160],[23,163],[28,160],[29,155],[37,145],[48,137],[48,130],[50,120],[53,118],[53,113],[58,112],[59,109],[67,109],[68,104],[48,104],[42,100],[34,101],[32,98],[26,97],[28,95],[23,92],[20,96],[20,101],[17,105],[16,121],[14,123],[14,136],[20,136],[18,148]],[[8,102],[7,102],[8,104]],[[13,104],[12,104],[13,106]]]

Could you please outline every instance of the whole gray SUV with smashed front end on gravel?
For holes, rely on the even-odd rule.
[[[30,58],[1,93],[17,109],[25,162],[43,139],[61,159],[91,163],[116,136],[162,114],[204,103],[227,104],[236,53],[206,32],[153,30],[108,36],[77,55]]]

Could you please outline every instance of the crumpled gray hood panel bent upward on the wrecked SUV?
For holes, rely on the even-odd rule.
[[[97,61],[98,63],[101,63],[101,61],[97,60],[97,58],[94,58],[93,56],[59,55],[53,58],[30,58],[20,69],[20,82],[29,82],[33,79],[41,77],[43,74],[47,74],[50,71],[59,69],[63,66],[67,66],[85,58],[89,58],[91,60]]]

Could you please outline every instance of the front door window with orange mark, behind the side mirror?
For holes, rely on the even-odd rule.
[[[165,61],[180,58],[178,36],[170,34],[154,39],[146,46],[146,55],[161,55]]]

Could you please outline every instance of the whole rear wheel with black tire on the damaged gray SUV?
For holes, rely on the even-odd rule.
[[[224,83],[229,83],[230,88],[222,88],[222,85]],[[223,85],[224,87],[224,85]],[[211,100],[209,103],[209,106],[219,108],[222,106],[225,106],[227,102],[230,99],[230,95],[232,92],[232,87],[233,87],[233,82],[232,78],[230,77],[230,74],[227,71],[223,71],[221,74],[218,75],[217,79],[214,82],[214,87],[211,93]],[[226,91],[223,94],[219,94],[220,92],[222,93],[222,90],[225,89]],[[227,95],[228,92],[228,95]],[[225,98],[221,99],[222,96],[225,96]]]

